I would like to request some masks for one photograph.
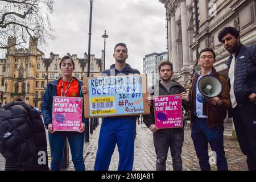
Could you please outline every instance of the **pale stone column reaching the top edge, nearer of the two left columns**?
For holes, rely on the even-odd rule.
[[[189,47],[188,47],[188,32],[187,32],[187,6],[186,1],[181,0],[180,2],[180,14],[181,14],[181,32],[182,32],[182,49],[183,49],[183,68],[188,69],[189,67]]]

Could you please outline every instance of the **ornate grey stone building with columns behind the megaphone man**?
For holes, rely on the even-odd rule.
[[[256,43],[255,0],[159,0],[166,7],[168,55],[174,64],[175,80],[188,89],[199,52],[216,52],[214,68],[228,76],[229,52],[218,42],[218,32],[226,26],[240,31],[244,45]],[[194,69],[197,68],[197,69]],[[226,118],[225,136],[232,136],[232,120]]]

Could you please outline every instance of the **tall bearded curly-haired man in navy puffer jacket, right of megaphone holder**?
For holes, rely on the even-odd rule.
[[[238,142],[247,156],[249,170],[256,170],[256,44],[250,47],[240,42],[240,32],[225,27],[218,40],[231,53],[229,68],[230,99]]]

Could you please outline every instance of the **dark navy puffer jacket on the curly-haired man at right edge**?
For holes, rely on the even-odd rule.
[[[228,68],[233,56],[226,62]],[[237,104],[242,105],[249,101],[248,96],[256,93],[256,44],[252,46],[240,45],[236,53],[236,64],[234,68],[234,94]]]

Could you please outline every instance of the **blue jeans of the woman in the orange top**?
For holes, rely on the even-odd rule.
[[[72,131],[55,131],[51,134],[48,132],[49,144],[51,147],[51,171],[60,171],[61,162],[63,161],[64,144],[66,138],[71,149],[72,162],[76,171],[85,171],[84,165],[84,132],[77,133]]]

